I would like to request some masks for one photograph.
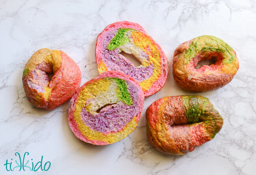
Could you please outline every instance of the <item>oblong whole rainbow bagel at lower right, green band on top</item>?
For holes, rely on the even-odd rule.
[[[146,111],[147,137],[157,150],[183,155],[210,141],[223,118],[207,98],[170,96],[153,102]]]

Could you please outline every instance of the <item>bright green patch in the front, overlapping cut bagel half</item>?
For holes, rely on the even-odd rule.
[[[118,99],[120,99],[125,105],[132,105],[133,99],[131,99],[131,94],[127,89],[126,81],[120,78],[107,79],[113,79],[118,84],[118,90],[116,91]]]

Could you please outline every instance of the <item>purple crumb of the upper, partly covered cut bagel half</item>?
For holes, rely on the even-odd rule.
[[[115,50],[108,50],[107,46],[109,42],[114,38],[118,29],[113,29],[109,31],[103,38],[103,44],[101,53],[103,54],[103,62],[105,65],[111,70],[121,71],[131,77],[133,77],[136,81],[141,82],[153,74],[154,65],[150,64],[147,67],[135,67],[133,63],[127,62],[127,60],[123,59],[123,56],[119,53],[121,52],[120,48],[116,48]],[[145,53],[140,53],[142,56],[145,56]]]

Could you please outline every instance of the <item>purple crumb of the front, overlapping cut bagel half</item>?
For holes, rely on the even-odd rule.
[[[116,133],[122,131],[123,127],[138,114],[138,107],[141,103],[138,101],[140,94],[138,88],[132,83],[126,82],[128,91],[133,99],[133,105],[125,105],[121,101],[117,104],[103,108],[97,114],[91,114],[85,107],[81,110],[82,121],[93,131],[104,134]]]

